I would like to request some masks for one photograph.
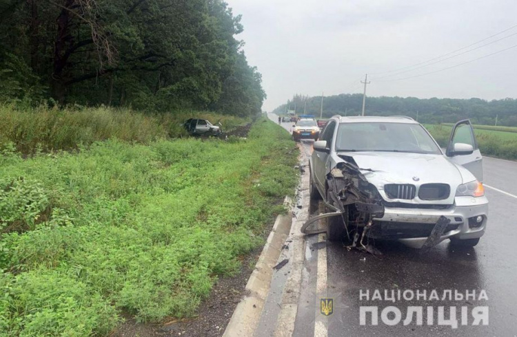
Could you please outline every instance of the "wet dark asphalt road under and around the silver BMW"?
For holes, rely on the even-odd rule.
[[[270,118],[277,121],[272,114]],[[283,123],[283,127],[290,131],[292,123]],[[312,152],[312,141],[302,144],[303,151]],[[303,160],[303,164],[308,164],[306,155]],[[484,157],[483,167],[489,221],[487,232],[475,248],[453,248],[447,240],[431,252],[419,254],[402,244],[389,243],[378,246],[382,257],[374,257],[347,250],[343,243],[322,245],[317,243],[316,235],[307,237],[294,336],[517,336],[517,162]],[[324,254],[325,259],[318,259],[319,254]],[[321,294],[316,296],[322,268],[326,268],[325,298],[334,300],[330,316],[321,314]],[[376,290],[380,291],[381,300],[372,298]],[[406,294],[409,301],[404,296],[401,300],[385,301],[392,298],[392,290],[394,294]],[[431,296],[433,290],[438,300]],[[455,292],[463,294],[463,298],[458,295],[456,301]],[[371,314],[365,315],[365,323],[361,324],[361,307],[378,309],[377,325],[372,324]],[[383,319],[381,312],[386,307],[396,309],[386,309],[390,313]],[[427,307],[432,307],[432,320],[427,316]],[[443,314],[438,312],[440,307],[444,307]],[[483,311],[478,312],[475,307],[488,313],[478,320],[479,325],[474,325],[474,316],[480,317]],[[421,323],[415,314],[420,309]],[[396,310],[401,312],[399,323]],[[456,318],[449,321],[454,311]],[[385,323],[390,320],[396,324]]]

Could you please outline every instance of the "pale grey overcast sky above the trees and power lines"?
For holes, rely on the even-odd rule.
[[[398,75],[385,73],[429,61],[517,25],[517,0],[227,2],[234,14],[243,16],[244,32],[237,39],[245,41],[248,62],[263,75],[267,93],[263,109],[267,111],[296,93],[362,92],[359,80],[366,73],[372,79],[368,96],[517,97],[517,47],[436,74],[392,80],[517,45],[517,27],[456,54],[515,34],[472,52]],[[387,75],[392,76],[381,78]]]

